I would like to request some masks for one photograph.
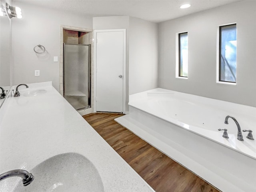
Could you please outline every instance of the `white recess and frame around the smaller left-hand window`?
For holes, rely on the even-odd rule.
[[[185,32],[178,32],[176,33],[176,78],[180,79],[188,79],[188,76],[180,76],[180,35],[181,34],[187,34],[188,36],[188,31]]]

